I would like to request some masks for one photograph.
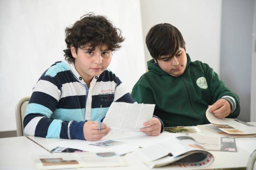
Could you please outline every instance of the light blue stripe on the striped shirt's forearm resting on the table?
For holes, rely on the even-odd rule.
[[[61,123],[61,120],[53,120],[52,123],[49,125],[46,138],[59,138]]]

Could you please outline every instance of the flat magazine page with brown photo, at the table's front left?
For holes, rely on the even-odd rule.
[[[127,166],[124,158],[115,152],[33,155],[33,161],[39,170]]]

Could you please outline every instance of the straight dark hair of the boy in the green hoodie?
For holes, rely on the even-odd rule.
[[[156,61],[161,55],[172,57],[179,50],[179,47],[186,51],[185,44],[181,32],[169,23],[153,26],[146,36],[147,49]]]

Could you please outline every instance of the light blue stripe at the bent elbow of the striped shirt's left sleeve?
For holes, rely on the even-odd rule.
[[[39,113],[39,114],[44,115],[47,118],[50,118],[52,115],[52,111],[49,108],[47,108],[41,104],[36,104],[36,103],[28,104],[25,116],[27,116],[30,113]]]

